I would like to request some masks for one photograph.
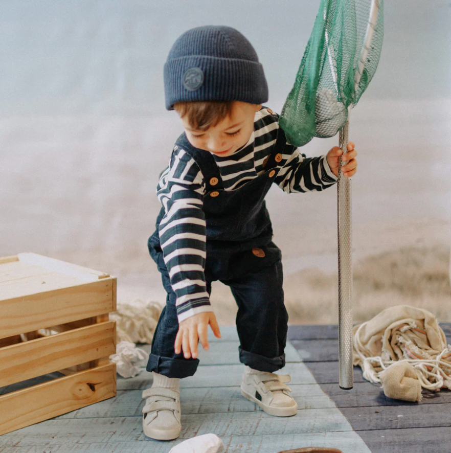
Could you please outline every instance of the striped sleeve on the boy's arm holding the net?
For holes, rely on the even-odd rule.
[[[274,182],[287,193],[321,191],[333,186],[337,177],[326,155],[306,157],[299,148],[286,142],[282,153],[283,167]]]

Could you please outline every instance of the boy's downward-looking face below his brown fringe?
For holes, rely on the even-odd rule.
[[[254,131],[255,112],[260,109],[261,104],[234,101],[230,117],[204,131],[192,129],[186,115],[181,120],[191,145],[227,157],[249,141]]]

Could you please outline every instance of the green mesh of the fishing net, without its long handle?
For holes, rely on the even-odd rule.
[[[321,0],[280,125],[289,143],[333,137],[345,124],[379,62],[383,0]],[[361,61],[362,60],[362,61]]]

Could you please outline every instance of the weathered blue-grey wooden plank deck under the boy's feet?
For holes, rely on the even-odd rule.
[[[451,324],[441,324],[448,336]],[[0,436],[0,453],[168,453],[196,435],[214,433],[227,453],[277,453],[283,449],[329,446],[345,453],[451,452],[451,392],[423,390],[421,403],[392,400],[379,384],[354,369],[354,389],[338,385],[337,326],[290,326],[286,349],[292,394],[299,411],[278,418],[240,395],[243,366],[238,361],[235,327],[222,327],[201,352],[195,376],[182,380],[179,439],[158,442],[142,432],[143,389],[151,374],[118,376],[118,394],[80,410]],[[148,345],[141,346],[149,350]],[[43,382],[59,373],[27,382]],[[19,384],[0,389],[7,393]],[[1,407],[0,407],[1,410]],[[376,412],[378,411],[378,412]]]

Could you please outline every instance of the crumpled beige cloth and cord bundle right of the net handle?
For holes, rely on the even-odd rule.
[[[381,382],[382,372],[398,361],[410,365],[385,374],[384,392],[396,399],[412,401],[412,395],[417,395],[416,401],[421,400],[418,383],[409,379],[431,391],[451,389],[451,346],[446,345],[443,329],[430,311],[396,305],[354,326],[353,333],[353,363],[362,367],[370,382]]]

